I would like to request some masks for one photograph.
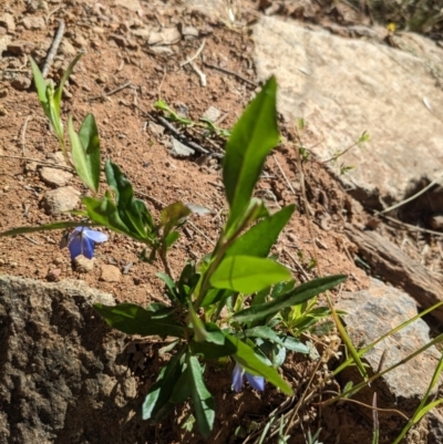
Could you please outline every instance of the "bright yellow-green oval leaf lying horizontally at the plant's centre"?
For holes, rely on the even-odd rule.
[[[210,277],[210,285],[215,288],[253,293],[290,278],[290,271],[271,259],[229,256],[223,259]]]

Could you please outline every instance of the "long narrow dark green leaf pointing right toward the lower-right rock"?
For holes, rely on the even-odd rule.
[[[270,302],[260,303],[234,314],[234,319],[238,322],[251,322],[264,319],[270,314],[275,314],[287,307],[302,303],[315,296],[338,286],[347,279],[346,276],[328,276],[305,282],[301,286],[279,296]]]

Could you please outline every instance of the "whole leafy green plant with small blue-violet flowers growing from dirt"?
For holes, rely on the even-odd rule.
[[[31,62],[40,102],[65,155],[61,94],[80,56],[70,64],[56,90],[52,83],[45,83],[37,64]],[[79,225],[101,226],[144,244],[143,260],[152,261],[158,255],[165,272],[157,276],[165,283],[168,304],[152,302],[146,308],[130,302],[94,306],[109,326],[124,333],[173,339],[168,345],[171,359],[161,369],[143,402],[144,420],[161,421],[176,404],[190,400],[199,432],[208,437],[216,407],[205,384],[210,361],[230,361],[229,371],[234,369],[236,390],[241,389],[240,382],[243,384],[246,375],[258,390],[264,389],[267,381],[282,393],[292,395],[291,386],[281,378],[278,368],[285,362],[287,351],[309,353],[309,348],[297,338],[297,331],[288,331],[287,327],[306,329],[312,319],[320,319],[324,313],[308,306],[309,319],[303,322],[300,310],[290,310],[346,280],[344,276],[330,276],[296,285],[289,269],[268,257],[295,211],[295,205],[289,205],[270,214],[261,200],[253,198],[266,156],[279,141],[276,93],[277,83],[271,78],[233,128],[223,163],[229,205],[227,221],[214,250],[199,262],[185,264],[178,279],[173,276],[167,254],[193,208],[176,202],[164,208],[159,219],[155,220],[144,202],[134,197],[125,174],[110,159],[103,168],[107,187],[100,190],[103,173],[100,137],[92,114],[86,115],[79,133],[72,117],[68,125],[73,165],[92,193],[82,198],[84,209],[74,211],[86,221],[61,221],[1,234],[13,236]],[[162,106],[165,110],[167,105]],[[90,233],[92,241],[102,241],[92,230],[79,227],[76,230]],[[73,238],[76,239],[71,236]],[[71,254],[86,242],[84,245],[92,255],[91,239],[87,242],[75,240],[80,247],[72,248]],[[228,317],[220,319],[220,313],[226,310]],[[192,427],[192,422],[186,427]]]

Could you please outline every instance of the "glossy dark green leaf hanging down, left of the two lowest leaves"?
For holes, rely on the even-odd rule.
[[[182,355],[183,352],[178,352],[171,358],[169,362],[159,371],[156,382],[151,385],[142,405],[143,420],[158,421],[173,409],[174,402],[169,399],[174,396],[177,379],[179,381],[181,374],[183,375]]]

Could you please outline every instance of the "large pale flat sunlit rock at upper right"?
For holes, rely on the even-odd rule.
[[[443,49],[434,42],[404,34],[400,50],[267,17],[254,40],[258,78],[277,75],[279,110],[306,120],[306,144],[319,143],[320,159],[369,132],[369,143],[328,164],[337,174],[341,163],[356,166],[340,178],[358,198],[400,200],[443,169]]]

